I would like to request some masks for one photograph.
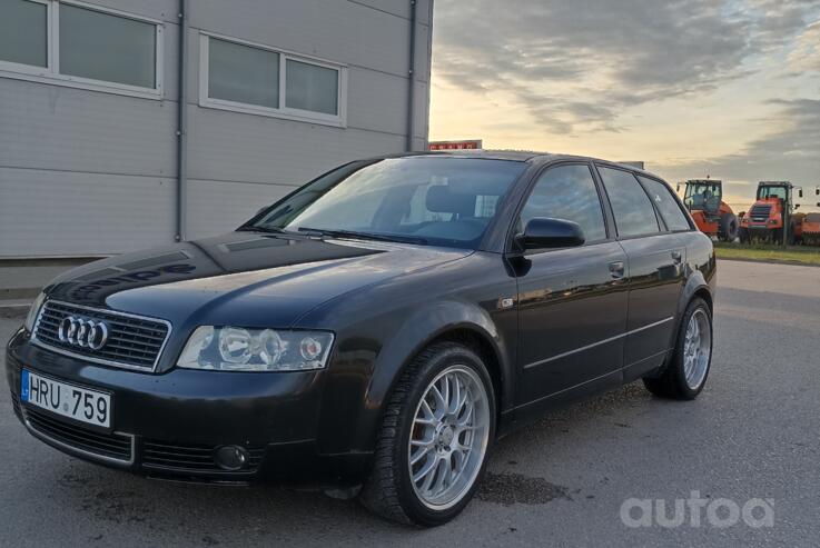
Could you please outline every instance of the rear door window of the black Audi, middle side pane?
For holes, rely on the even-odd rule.
[[[618,235],[641,236],[660,231],[652,202],[638,179],[629,171],[599,167],[606,196],[615,215]]]

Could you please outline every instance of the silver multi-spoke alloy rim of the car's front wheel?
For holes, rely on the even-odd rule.
[[[411,484],[429,509],[446,510],[478,477],[490,439],[490,400],[478,373],[451,366],[427,386],[413,416]]]

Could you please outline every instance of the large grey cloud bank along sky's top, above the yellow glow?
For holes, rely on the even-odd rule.
[[[508,96],[534,131],[619,131],[624,109],[703,93],[794,39],[812,0],[438,0],[436,79]],[[807,48],[816,46],[811,36]],[[817,50],[796,63],[813,62]]]

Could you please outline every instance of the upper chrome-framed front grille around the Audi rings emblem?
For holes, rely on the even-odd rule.
[[[105,322],[108,340],[102,348],[60,340],[60,322],[69,317]],[[53,300],[46,301],[34,326],[34,341],[41,346],[98,363],[145,371],[156,367],[169,333],[170,323],[165,320]]]

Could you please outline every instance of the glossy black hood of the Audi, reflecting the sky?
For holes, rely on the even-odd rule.
[[[57,278],[49,299],[172,325],[287,327],[323,302],[472,251],[258,232],[180,242],[96,261]]]

